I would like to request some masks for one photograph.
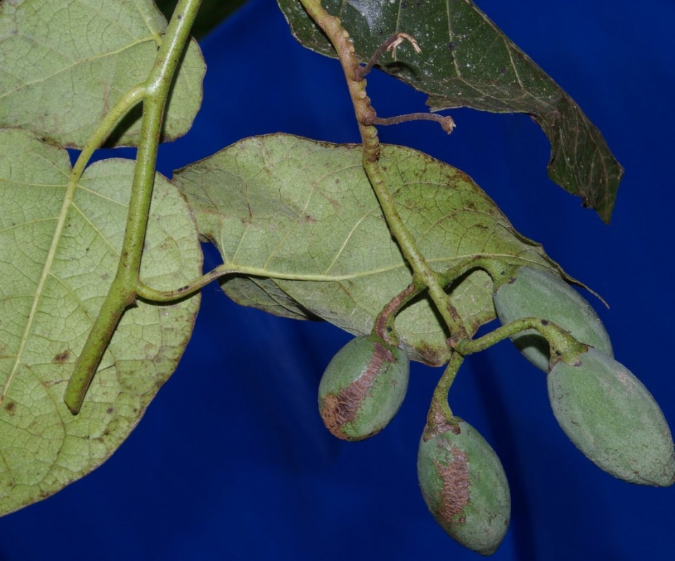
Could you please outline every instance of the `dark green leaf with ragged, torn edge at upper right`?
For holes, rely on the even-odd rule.
[[[336,56],[297,0],[278,0],[295,38]],[[579,105],[470,0],[323,0],[366,62],[394,32],[415,37],[380,69],[429,94],[433,111],[468,107],[532,115],[551,142],[548,175],[609,222],[623,169]],[[377,103],[375,102],[375,107]]]

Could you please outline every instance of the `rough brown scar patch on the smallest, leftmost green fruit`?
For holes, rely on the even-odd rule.
[[[363,375],[359,376],[345,389],[342,389],[339,394],[326,394],[321,403],[319,413],[323,419],[323,424],[335,437],[342,440],[354,440],[354,437],[345,434],[343,427],[347,423],[352,423],[356,418],[356,414],[359,413],[361,407],[361,401],[371,391],[375,378],[382,371],[383,364],[394,362],[394,354],[382,344],[375,342],[373,350],[373,356]],[[373,434],[366,434],[362,438],[371,437]]]

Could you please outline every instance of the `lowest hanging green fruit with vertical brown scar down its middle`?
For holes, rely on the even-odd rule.
[[[457,434],[420,441],[417,474],[436,522],[456,541],[491,555],[506,535],[511,499],[506,474],[487,441],[458,419]]]

